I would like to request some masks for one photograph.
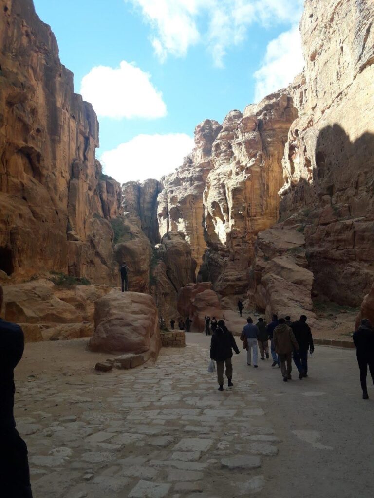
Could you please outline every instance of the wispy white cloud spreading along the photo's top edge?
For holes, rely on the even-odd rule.
[[[190,46],[203,42],[222,67],[226,50],[245,39],[250,25],[297,22],[304,0],[125,1],[140,7],[152,26],[152,45],[161,61],[169,54],[184,57]]]

